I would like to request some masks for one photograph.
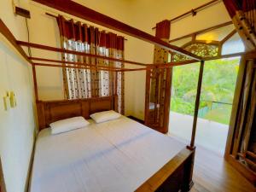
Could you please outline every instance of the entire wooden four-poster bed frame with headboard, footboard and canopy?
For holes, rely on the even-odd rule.
[[[195,131],[196,131],[196,119],[200,102],[200,93],[201,93],[201,80],[203,74],[204,67],[204,58],[201,56],[190,53],[185,49],[178,48],[169,44],[168,42],[160,40],[160,38],[155,38],[149,35],[146,32],[142,32],[136,28],[128,26],[118,20],[113,20],[112,18],[97,13],[91,9],[85,8],[79,3],[74,3],[72,1],[49,1],[49,0],[34,0],[38,3],[43,3],[49,7],[54,9],[61,10],[66,12],[67,14],[78,16],[84,20],[92,21],[101,26],[106,26],[113,30],[123,32],[125,34],[131,35],[136,38],[140,38],[145,40],[151,44],[155,44],[160,46],[162,49],[166,49],[172,52],[176,52],[181,55],[185,55],[189,57],[191,60],[186,61],[177,61],[171,63],[153,63],[146,64],[136,61],[126,61],[124,59],[116,59],[109,56],[102,56],[96,54],[82,53],[75,50],[68,50],[62,48],[49,47],[42,44],[32,44],[30,42],[24,42],[16,40],[15,37],[9,32],[9,29],[3,24],[3,21],[0,20],[0,32],[3,34],[5,38],[9,40],[11,44],[14,45],[15,49],[20,52],[26,61],[28,61],[32,65],[32,73],[33,73],[33,81],[34,81],[34,90],[35,97],[37,102],[37,111],[38,111],[38,127],[39,130],[43,130],[49,126],[50,123],[55,122],[59,119],[67,119],[74,116],[83,116],[85,119],[88,119],[91,113],[96,113],[100,111],[106,110],[117,110],[117,96],[113,94],[112,96],[102,96],[102,97],[92,97],[85,99],[74,99],[74,100],[63,100],[63,101],[40,101],[38,96],[38,84],[37,84],[37,76],[36,76],[36,67],[61,67],[61,68],[77,68],[77,69],[86,69],[91,71],[108,71],[113,73],[124,73],[131,71],[140,71],[140,70],[154,70],[154,69],[166,69],[172,68],[178,65],[185,65],[197,61],[201,61],[201,69],[199,73],[199,81],[198,81],[198,89],[196,95],[195,102],[195,117],[192,129],[192,136],[189,146],[183,148],[179,148],[174,154],[172,154],[172,158],[168,159],[164,164],[161,164],[158,170],[154,170],[154,174],[147,176],[147,179],[140,183],[137,186],[135,191],[189,191],[192,187],[192,174],[193,174],[193,166],[194,166],[194,158],[195,158]],[[85,13],[85,14],[84,14]],[[38,58],[27,56],[25,51],[21,48],[21,46],[26,46],[34,49],[44,49],[49,51],[59,52],[61,54],[70,54],[70,55],[81,55],[90,58],[97,58],[106,61],[115,61],[120,63],[128,63],[131,65],[138,65],[141,68],[125,68],[125,67],[106,67],[104,65],[94,65],[91,63],[84,63],[81,61],[58,61],[46,58]],[[241,54],[239,54],[241,55]],[[229,55],[228,55],[229,56]],[[211,58],[207,58],[211,59]],[[34,62],[37,61],[37,62]],[[39,63],[38,61],[45,61],[47,63]],[[49,64],[49,62],[51,62]],[[53,64],[55,63],[55,64]],[[58,64],[59,63],[59,64]],[[62,63],[73,64],[73,66],[61,65]],[[113,87],[117,88],[117,83]],[[113,93],[116,93],[117,90],[113,90]],[[131,123],[131,125],[135,125]],[[144,128],[142,128],[144,129]],[[159,133],[152,133],[153,135],[157,135]],[[159,136],[159,135],[158,135]],[[160,137],[160,136],[159,136]],[[164,137],[162,137],[164,138]]]

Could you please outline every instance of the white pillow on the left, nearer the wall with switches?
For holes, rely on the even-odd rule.
[[[83,117],[73,117],[69,119],[55,121],[54,123],[51,123],[49,126],[51,129],[51,134],[58,134],[61,132],[79,129],[89,124],[90,122],[85,120]]]

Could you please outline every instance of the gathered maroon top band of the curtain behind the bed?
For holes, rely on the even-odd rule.
[[[61,15],[57,17],[57,22],[62,37],[100,47],[124,50],[125,38],[113,32],[100,31],[97,27],[87,26],[79,21],[66,20]]]

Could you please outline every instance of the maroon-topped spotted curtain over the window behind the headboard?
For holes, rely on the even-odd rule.
[[[57,17],[61,35],[61,47],[92,55],[102,55],[124,60],[124,37],[113,32],[100,31],[95,26],[88,26],[81,22],[65,20],[61,15]],[[104,59],[62,54],[65,61],[90,64],[92,66],[123,68],[124,63]],[[67,99],[89,98],[97,96],[118,96],[118,111],[124,113],[124,73],[89,69],[63,68],[64,92]]]

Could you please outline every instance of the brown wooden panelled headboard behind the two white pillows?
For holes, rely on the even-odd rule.
[[[56,120],[83,116],[90,119],[90,114],[115,110],[117,111],[117,96],[103,96],[88,99],[38,101],[38,129],[49,127]]]

